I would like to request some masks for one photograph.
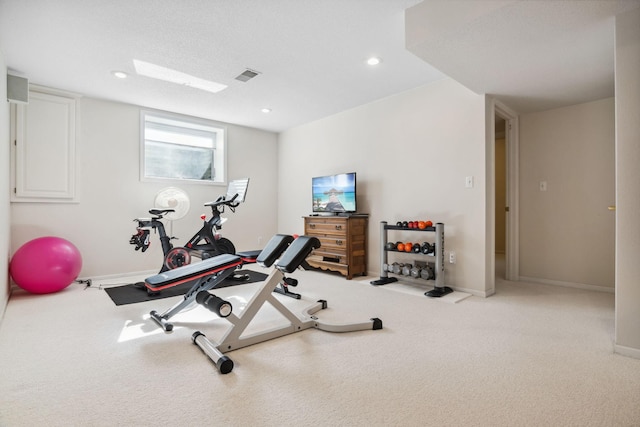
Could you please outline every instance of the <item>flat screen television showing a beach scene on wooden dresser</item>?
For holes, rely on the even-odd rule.
[[[314,213],[356,212],[356,173],[311,178]]]

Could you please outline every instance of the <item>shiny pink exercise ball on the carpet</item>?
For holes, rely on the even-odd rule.
[[[49,294],[69,286],[80,274],[82,256],[60,237],[40,237],[22,245],[11,258],[9,274],[25,291]]]

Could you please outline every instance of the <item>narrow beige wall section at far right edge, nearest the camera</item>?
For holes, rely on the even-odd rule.
[[[616,17],[616,351],[640,359],[640,8]]]

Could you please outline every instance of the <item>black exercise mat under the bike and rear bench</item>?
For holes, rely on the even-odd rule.
[[[267,278],[267,275],[264,273],[260,273],[257,271],[251,270],[241,270],[237,271],[237,274],[248,274],[248,280],[234,280],[231,278],[226,278],[222,281],[216,289],[226,288],[227,286],[235,286],[242,285],[245,283],[254,283],[261,282]],[[115,286],[113,288],[105,288],[105,292],[111,297],[113,302],[116,305],[126,305],[126,304],[135,304],[138,302],[144,301],[152,301],[156,299],[163,299],[169,297],[175,297],[177,295],[184,295],[191,289],[193,283],[183,283],[182,285],[174,286],[173,288],[165,289],[157,295],[149,295],[147,294],[147,289],[144,287],[144,284],[141,286],[136,286],[135,283],[124,285],[124,286]]]

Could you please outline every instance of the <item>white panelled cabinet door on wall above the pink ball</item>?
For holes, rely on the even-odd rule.
[[[29,93],[16,106],[14,202],[76,201],[76,99]]]

